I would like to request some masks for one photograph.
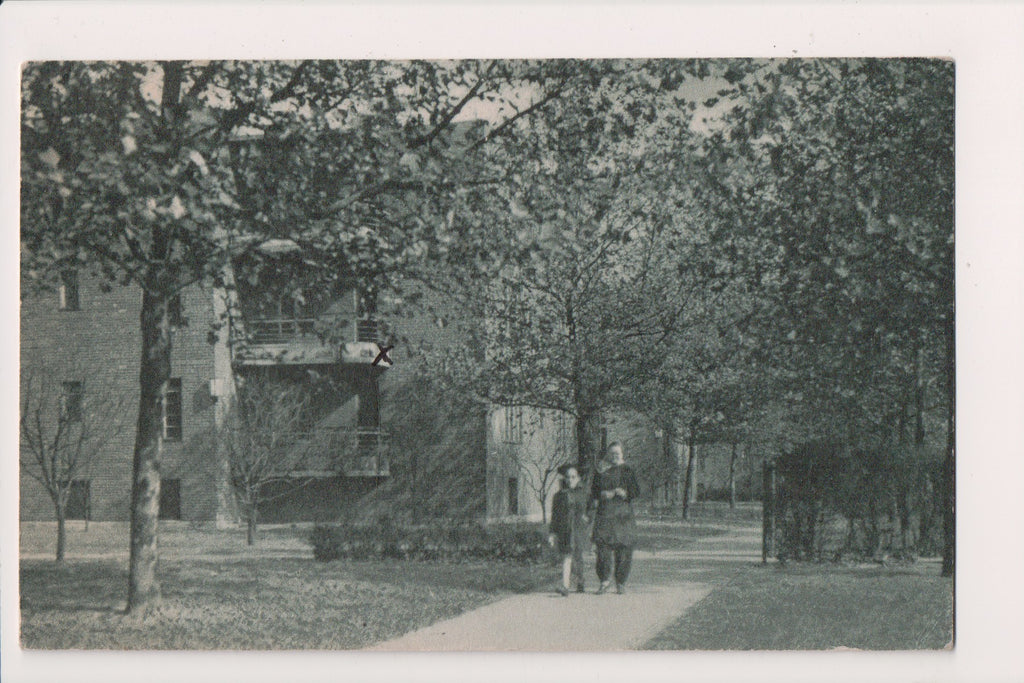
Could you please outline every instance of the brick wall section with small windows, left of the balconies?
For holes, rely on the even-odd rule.
[[[84,274],[79,283],[78,310],[59,310],[57,293],[27,294],[20,312],[22,391],[30,378],[83,383],[84,419],[103,425],[105,436],[93,451],[88,472],[91,517],[126,520],[129,517],[132,451],[138,416],[140,355],[137,288],[114,286],[102,291],[100,282]],[[187,326],[174,332],[172,377],[181,379],[182,439],[167,443],[165,477],[180,477],[181,514],[186,519],[210,519],[215,486],[208,467],[210,454],[200,464],[187,462],[196,454],[186,449],[201,442],[209,427],[213,401],[213,349],[207,340],[212,322],[209,292],[194,288],[182,293]],[[49,497],[27,472],[20,476],[23,519],[52,519]]]

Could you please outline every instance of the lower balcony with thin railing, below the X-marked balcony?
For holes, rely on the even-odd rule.
[[[236,432],[240,445],[258,450],[258,434]],[[309,432],[273,434],[275,476],[385,477],[389,475],[387,434],[380,429],[317,429]]]

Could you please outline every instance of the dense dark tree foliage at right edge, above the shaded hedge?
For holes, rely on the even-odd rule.
[[[783,429],[897,459],[920,459],[926,432],[944,436],[951,572],[952,63],[785,60],[733,73],[700,191],[742,236],[737,258],[767,302],[754,324]]]

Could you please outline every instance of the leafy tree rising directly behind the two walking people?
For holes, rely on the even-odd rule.
[[[482,399],[572,416],[593,467],[601,412],[656,372],[719,273],[688,187],[680,61],[573,63],[489,150],[506,182],[468,188],[441,276],[478,353],[445,358]],[[482,323],[481,323],[482,322]]]

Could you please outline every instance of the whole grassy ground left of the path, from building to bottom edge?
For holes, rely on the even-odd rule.
[[[22,525],[22,644],[31,649],[351,649],[506,595],[554,586],[552,566],[312,559],[308,529],[244,531],[162,524],[160,610],[122,613],[127,525],[69,529],[65,566],[52,524]],[[699,527],[641,524],[641,546],[683,547]]]

